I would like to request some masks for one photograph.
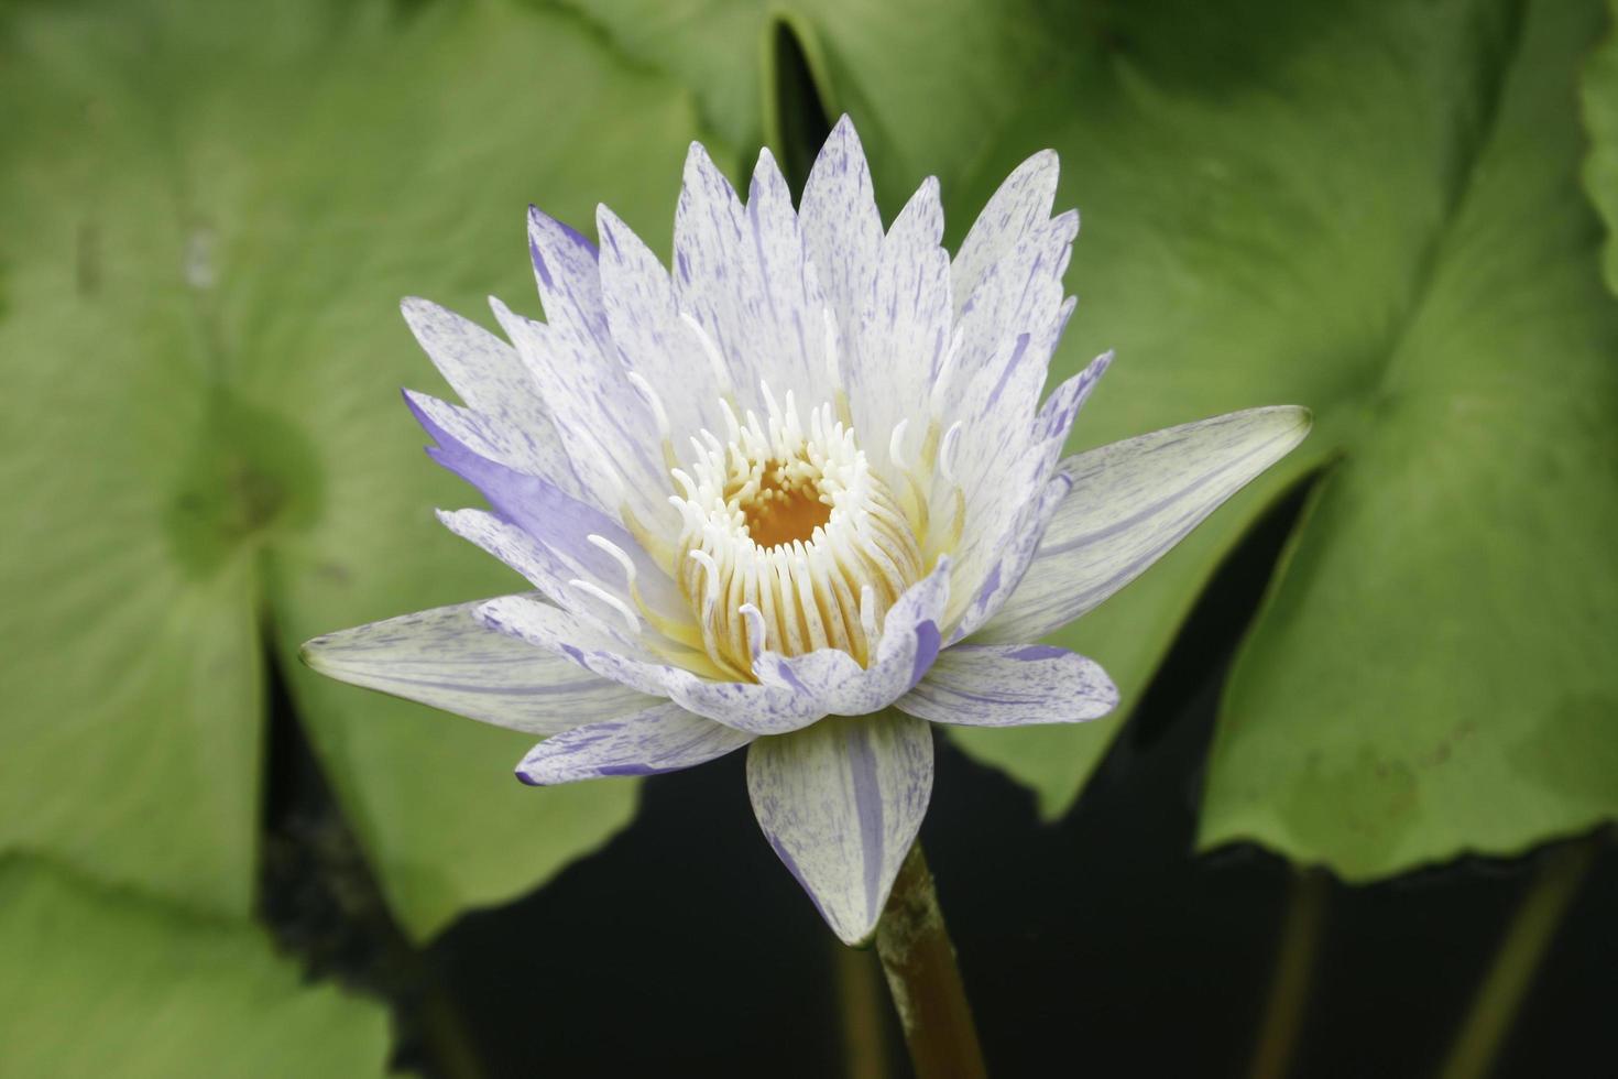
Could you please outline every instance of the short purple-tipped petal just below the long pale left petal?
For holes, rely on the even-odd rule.
[[[680,772],[741,749],[752,738],[665,700],[634,715],[547,738],[523,757],[516,778],[531,786],[550,786],[610,775]]]

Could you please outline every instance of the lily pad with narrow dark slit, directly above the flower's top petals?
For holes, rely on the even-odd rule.
[[[733,144],[777,125],[781,34],[807,53],[822,105],[859,121],[892,215],[924,176],[948,193],[1069,52],[1078,8],[1040,0],[563,0],[625,52],[686,81]],[[1069,5],[1071,6],[1071,5]],[[804,102],[807,104],[807,102]],[[791,160],[791,147],[783,160]],[[958,233],[963,230],[956,228]]]

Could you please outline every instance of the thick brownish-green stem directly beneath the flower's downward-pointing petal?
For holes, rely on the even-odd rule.
[[[919,840],[904,856],[877,922],[877,954],[916,1079],[982,1079],[987,1073],[972,1008]]]

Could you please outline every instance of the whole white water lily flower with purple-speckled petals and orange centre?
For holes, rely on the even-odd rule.
[[[748,747],[765,836],[840,938],[870,937],[932,794],[932,725],[1076,723],[1118,704],[1037,644],[1139,576],[1304,437],[1262,408],[1061,458],[1110,354],[1042,400],[1079,228],[1057,155],[955,257],[935,180],[882,226],[853,125],[794,209],[693,144],[671,270],[612,210],[539,210],[545,322],[510,343],[404,319],[464,404],[406,391],[490,510],[443,524],[532,590],[316,637],[319,671],[545,736],[534,785]]]

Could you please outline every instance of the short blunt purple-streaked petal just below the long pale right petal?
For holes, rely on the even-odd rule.
[[[934,723],[1024,726],[1081,723],[1118,707],[1095,660],[1042,644],[950,649],[895,705]]]

